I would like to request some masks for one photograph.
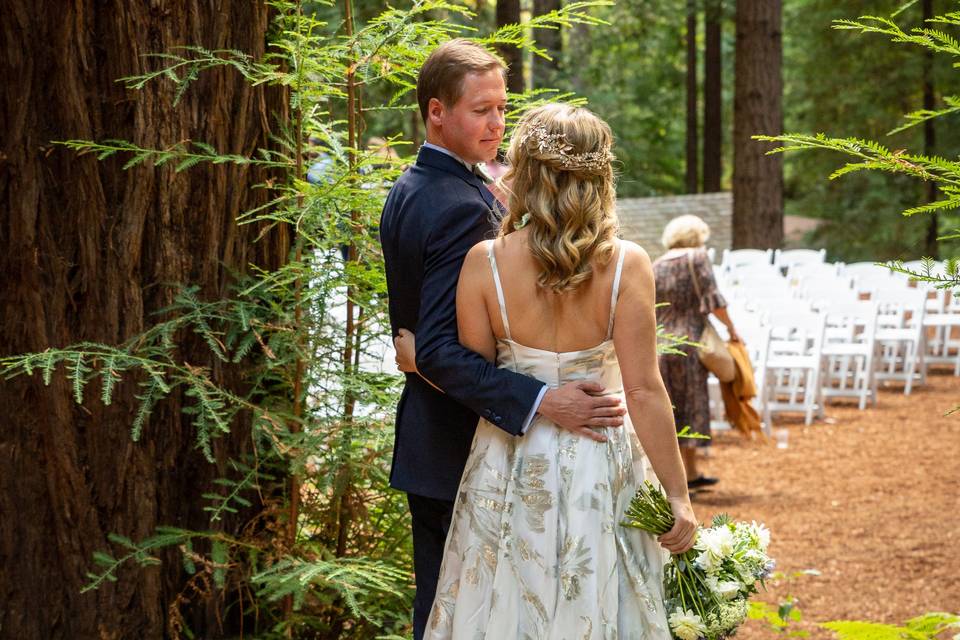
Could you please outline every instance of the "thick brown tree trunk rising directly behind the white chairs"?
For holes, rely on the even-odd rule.
[[[783,160],[751,139],[783,130],[781,0],[737,0],[733,105],[733,246],[783,242]]]

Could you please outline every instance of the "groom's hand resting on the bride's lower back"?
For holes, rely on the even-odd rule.
[[[606,442],[606,436],[594,429],[622,426],[627,409],[618,397],[598,395],[603,391],[596,382],[568,382],[547,391],[538,412],[568,431]]]

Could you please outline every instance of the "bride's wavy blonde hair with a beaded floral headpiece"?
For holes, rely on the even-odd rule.
[[[617,233],[613,134],[588,109],[546,104],[527,112],[507,151],[499,184],[509,194],[503,235],[530,229],[540,264],[537,282],[556,293],[593,275],[592,261],[610,260]],[[508,186],[509,185],[509,186]]]

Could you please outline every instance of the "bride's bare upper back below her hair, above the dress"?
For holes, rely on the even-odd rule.
[[[521,230],[494,242],[503,287],[510,338],[545,351],[568,352],[595,347],[607,338],[611,292],[621,247],[605,263],[594,258],[592,276],[577,288],[554,293],[538,284],[541,266],[530,251],[529,233]],[[497,338],[506,338],[495,281],[484,288],[484,302]]]

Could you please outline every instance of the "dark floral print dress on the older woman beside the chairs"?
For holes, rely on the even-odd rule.
[[[700,296],[690,275],[697,274]],[[707,252],[700,249],[672,249],[653,263],[657,287],[657,322],[667,333],[696,340],[703,333],[708,313],[727,306],[717,289],[713,266]],[[661,355],[660,375],[673,403],[677,429],[690,427],[693,433],[710,435],[710,398],[707,395],[707,370],[697,358],[694,347],[680,349],[686,355]],[[681,447],[708,446],[709,440],[681,439]]]

